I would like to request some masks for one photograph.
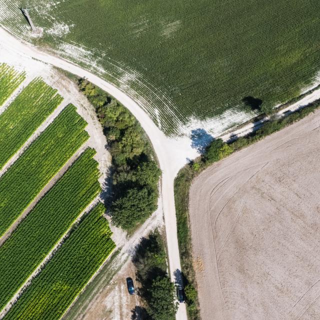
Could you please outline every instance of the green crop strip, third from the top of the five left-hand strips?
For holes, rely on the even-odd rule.
[[[86,124],[68,105],[0,178],[0,236],[87,140]]]

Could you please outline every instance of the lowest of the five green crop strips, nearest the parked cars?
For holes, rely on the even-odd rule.
[[[58,320],[115,247],[99,203],[80,222],[4,317]]]

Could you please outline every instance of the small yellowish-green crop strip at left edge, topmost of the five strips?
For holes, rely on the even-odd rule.
[[[0,63],[0,105],[25,79],[24,72],[17,72],[13,67]]]

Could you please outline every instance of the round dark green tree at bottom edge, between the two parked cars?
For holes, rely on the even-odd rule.
[[[157,276],[148,289],[149,299],[146,307],[153,320],[173,320],[178,302],[175,301],[175,287],[167,275]]]

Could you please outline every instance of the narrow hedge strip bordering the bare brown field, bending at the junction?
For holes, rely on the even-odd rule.
[[[187,312],[190,320],[200,318],[194,272],[196,261],[192,256],[188,217],[189,188],[193,178],[212,163],[304,118],[318,107],[320,107],[320,99],[284,117],[276,118],[273,116],[258,130],[230,143],[223,142],[220,138],[215,139],[207,146],[204,154],[185,165],[178,172],[174,180],[174,199],[181,268],[184,275]]]

